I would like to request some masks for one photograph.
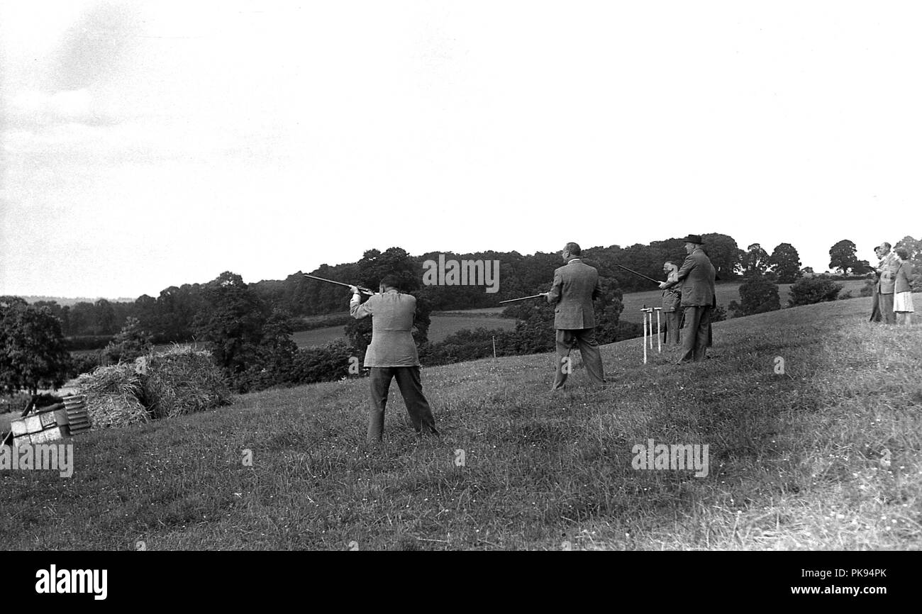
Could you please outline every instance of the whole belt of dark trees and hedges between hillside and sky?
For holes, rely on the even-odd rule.
[[[758,243],[751,244],[746,251],[740,250],[727,235],[705,235],[704,239],[718,277],[743,276],[739,289],[741,301],[729,305],[734,315],[780,308],[777,284],[789,283],[790,279],[797,280],[791,289],[792,305],[834,300],[841,289],[828,276],[803,277],[810,271],[799,268],[797,250],[789,243],[779,244],[768,254]],[[864,265],[857,259],[836,260],[836,254],[856,253],[847,243],[836,243],[830,250],[831,265],[840,263],[838,268],[842,273],[861,271]],[[922,263],[918,262],[922,260],[922,242],[906,237],[897,245],[905,246],[919,265],[915,284],[916,289],[922,289]],[[541,301],[519,303],[505,310],[504,315],[517,321],[513,331],[461,331],[442,343],[432,344],[428,330],[433,309],[492,306],[504,298],[548,289],[553,270],[561,266],[558,254],[445,254],[459,260],[499,260],[502,283],[496,294],[486,293],[477,286],[423,285],[421,263],[438,255],[412,256],[398,247],[384,252],[369,250],[357,263],[324,265],[313,273],[372,288],[385,274],[400,277],[405,291],[417,297],[414,337],[420,346],[420,358],[426,364],[484,358],[491,355],[494,344],[498,355],[552,348],[553,310]],[[604,297],[596,303],[600,343],[639,335],[638,325],[620,321],[621,299],[625,288],[648,289],[650,285],[647,280],[625,274],[616,265],[629,266],[649,277],[662,277],[664,261],[678,264],[684,256],[684,243],[680,239],[624,249],[615,245],[585,250],[583,259],[597,266],[603,278]],[[869,291],[866,288],[862,293]],[[100,300],[68,308],[50,301],[30,305],[18,297],[0,297],[0,388],[7,392],[35,391],[39,387],[60,385],[66,377],[89,370],[100,359],[134,360],[158,341],[196,340],[207,344],[214,360],[239,392],[354,375],[349,372],[349,365],[356,360],[361,364],[371,341],[370,319],[347,318],[348,341],[340,340],[324,348],[300,349],[291,338],[299,325],[299,315],[341,313],[347,300],[348,293],[341,287],[306,279],[300,273],[282,281],[246,284],[240,275],[232,272],[222,273],[205,284],[165,289],[157,299],[142,296],[133,303]],[[293,307],[299,309],[290,309]],[[720,309],[717,319],[723,313]],[[78,328],[80,323],[86,327]],[[75,327],[91,335],[105,336],[112,331],[115,334],[105,337],[108,343],[100,355],[86,357],[81,362],[70,356],[65,345],[65,334],[73,333]]]

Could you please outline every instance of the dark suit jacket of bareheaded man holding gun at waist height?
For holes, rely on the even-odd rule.
[[[596,327],[596,310],[592,301],[602,294],[602,282],[594,266],[573,258],[554,271],[554,285],[548,302],[557,303],[554,328],[575,330]]]

